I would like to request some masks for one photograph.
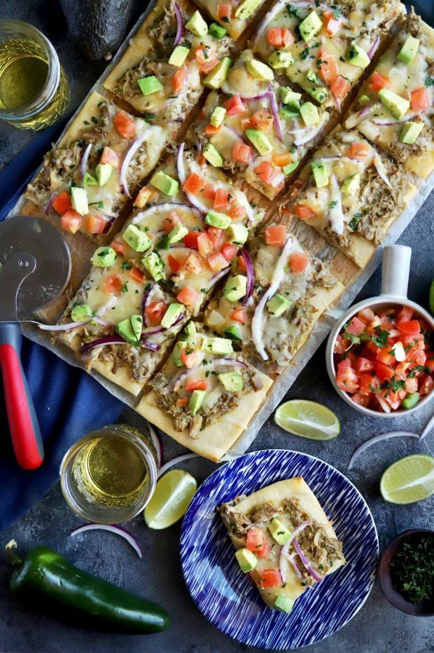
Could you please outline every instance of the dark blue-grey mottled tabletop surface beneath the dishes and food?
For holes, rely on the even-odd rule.
[[[137,2],[139,11],[140,3]],[[101,74],[104,64],[83,60],[66,36],[64,18],[56,2],[43,0],[8,0],[0,4],[0,17],[28,20],[43,29],[52,39],[66,68],[75,104],[81,99],[94,79]],[[25,146],[32,135],[9,125],[0,125],[0,167],[8,163]],[[413,247],[412,274],[409,296],[427,306],[428,287],[434,277],[433,247],[434,194],[423,206],[412,224],[400,238],[404,245]],[[360,293],[359,299],[379,292],[379,270]],[[347,465],[353,448],[378,432],[418,430],[428,421],[433,408],[427,407],[420,415],[402,418],[399,422],[365,418],[338,399],[330,387],[325,372],[324,348],[320,348],[307,364],[288,397],[304,397],[321,401],[337,413],[342,433],[330,442],[315,442],[283,433],[271,420],[264,425],[252,446],[288,448],[305,451],[335,465],[356,484],[372,510],[377,524],[380,550],[398,532],[407,528],[433,528],[434,499],[419,504],[394,507],[379,495],[379,479],[383,470],[403,455],[433,453],[434,434],[426,441],[388,441],[370,449],[360,458],[355,469]],[[140,426],[140,418],[126,410],[125,421]],[[167,460],[181,449],[165,440]],[[201,482],[215,466],[206,460],[191,460],[186,469]],[[7,488],[1,487],[7,492]],[[0,651],[10,653],[240,653],[254,651],[228,638],[211,626],[197,610],[183,583],[179,562],[180,525],[161,532],[146,528],[136,518],[129,528],[137,535],[145,555],[139,560],[123,540],[104,532],[93,532],[69,537],[80,520],[66,507],[57,484],[41,502],[20,521],[1,532],[0,548],[15,537],[23,551],[36,544],[48,544],[68,557],[80,568],[125,586],[164,605],[172,615],[172,627],[159,635],[115,635],[102,631],[85,630],[54,619],[40,605],[24,605],[8,593],[10,570],[0,561]],[[309,647],[311,653],[430,653],[434,641],[434,619],[418,619],[398,612],[381,593],[376,582],[370,597],[356,617],[341,631],[318,645]]]

